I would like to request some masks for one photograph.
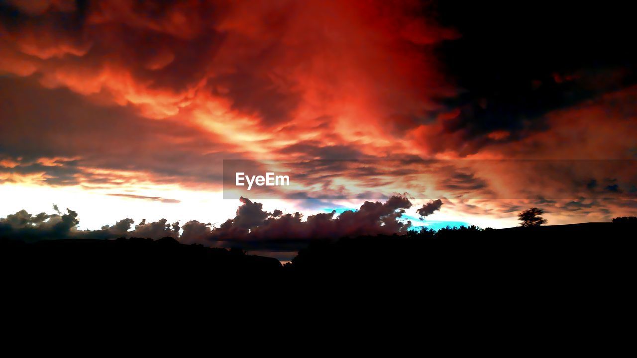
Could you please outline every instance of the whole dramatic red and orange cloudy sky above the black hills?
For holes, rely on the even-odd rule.
[[[327,192],[365,178],[358,196],[264,199],[250,231],[275,210],[351,227],[336,215],[372,210],[366,185],[408,193],[379,200],[392,231],[399,208],[412,225],[634,215],[633,35],[613,1],[0,1],[0,217],[240,227],[257,204],[222,199],[223,159],[373,160],[325,169]]]

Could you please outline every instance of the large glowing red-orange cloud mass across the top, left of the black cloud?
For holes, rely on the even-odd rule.
[[[411,15],[417,2],[60,6],[20,6],[39,17],[0,27],[8,50],[0,69],[37,73],[45,87],[132,105],[145,117],[179,115],[250,152],[299,140],[408,152],[395,136],[427,120],[434,94],[454,93],[429,47],[457,34]],[[317,129],[326,118],[330,131]],[[400,125],[388,131],[391,118]]]

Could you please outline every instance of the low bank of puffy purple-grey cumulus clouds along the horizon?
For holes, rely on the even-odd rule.
[[[171,236],[185,244],[202,243],[210,246],[233,247],[234,245],[254,245],[255,242],[268,247],[276,241],[306,241],[318,238],[342,238],[346,236],[404,234],[411,222],[400,219],[412,203],[404,196],[390,197],[385,203],[366,201],[359,210],[344,211],[336,216],[331,213],[310,215],[274,210],[264,211],[261,203],[241,198],[241,205],[234,218],[226,220],[219,227],[191,220],[180,227],[179,222],[169,224],[162,218],[156,222],[141,220],[134,225],[131,218],[122,219],[112,226],[99,230],[78,230],[78,215],[68,210],[64,215],[39,213],[31,215],[25,210],[0,218],[0,236],[20,238],[27,241],[92,238],[112,239],[119,237],[142,237],[159,239]],[[132,230],[131,230],[132,229]],[[181,234],[180,234],[181,231]]]

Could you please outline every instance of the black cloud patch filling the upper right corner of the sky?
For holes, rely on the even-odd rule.
[[[454,134],[457,143],[470,141],[462,154],[545,131],[549,111],[637,83],[626,3],[440,1],[435,8],[441,24],[462,34],[438,49],[462,89],[445,100],[457,113],[445,121],[448,135],[440,140]],[[496,131],[507,134],[489,138]],[[437,150],[446,147],[437,142]]]

